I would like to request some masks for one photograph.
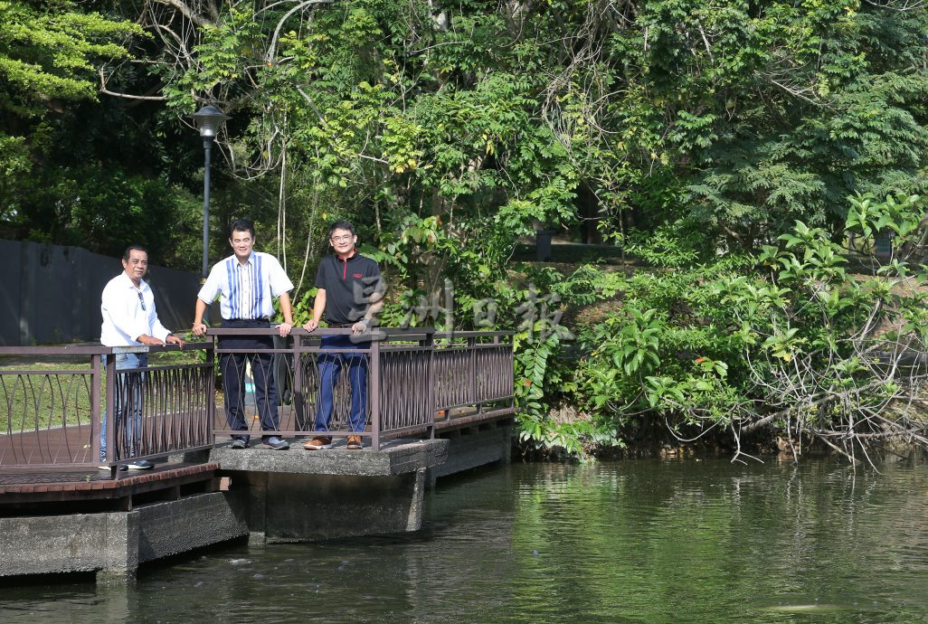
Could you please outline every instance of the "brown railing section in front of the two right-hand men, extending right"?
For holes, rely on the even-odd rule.
[[[209,335],[274,336],[274,329],[211,329]],[[369,341],[356,349],[324,350],[321,338],[347,336],[350,329],[317,329],[309,333],[294,329],[288,338],[276,337],[271,363],[258,363],[274,374],[280,397],[276,429],[262,428],[267,419],[262,405],[246,393],[238,409],[246,414],[247,435],[278,435],[311,438],[325,434],[336,438],[352,435],[349,428],[352,391],[347,365],[333,388],[334,405],[328,431],[314,428],[320,404],[319,362],[321,357],[341,354],[364,358],[367,367],[366,424],[360,432],[374,448],[385,439],[413,434],[433,436],[435,428],[454,427],[475,419],[512,414],[513,372],[510,332],[456,332],[436,334],[432,328],[375,329]],[[253,351],[216,349],[224,354]],[[250,378],[239,381],[250,388]],[[216,411],[217,438],[242,435],[233,431]]]

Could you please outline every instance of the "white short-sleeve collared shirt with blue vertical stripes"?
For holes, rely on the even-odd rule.
[[[274,298],[292,288],[277,258],[252,251],[244,264],[233,255],[213,265],[197,297],[209,304],[221,295],[224,319],[269,319],[274,316]]]

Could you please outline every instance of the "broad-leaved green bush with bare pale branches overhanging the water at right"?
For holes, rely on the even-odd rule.
[[[883,230],[912,236],[922,215],[919,197],[850,204],[847,234],[864,248]],[[902,258],[851,274],[828,232],[802,222],[779,241],[748,259],[630,276],[623,310],[581,333],[572,400],[614,414],[620,431],[652,414],[685,437],[905,432],[905,418],[882,414],[924,393],[922,374],[899,364],[926,344],[925,296],[906,287],[922,270]]]

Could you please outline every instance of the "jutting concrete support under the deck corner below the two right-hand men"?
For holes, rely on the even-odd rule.
[[[249,544],[401,533],[422,526],[426,471],[443,439],[397,440],[380,451],[215,449],[211,461],[247,490]]]

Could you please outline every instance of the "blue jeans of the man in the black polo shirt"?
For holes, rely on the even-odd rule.
[[[320,349],[367,349],[369,342],[352,342],[351,336],[323,337]],[[367,353],[324,353],[319,352],[319,395],[316,401],[316,431],[329,431],[329,421],[334,407],[335,384],[339,381],[342,367],[348,366],[351,381],[351,412],[348,428],[354,433],[364,431],[367,421]]]

